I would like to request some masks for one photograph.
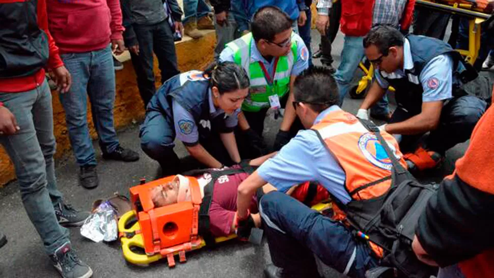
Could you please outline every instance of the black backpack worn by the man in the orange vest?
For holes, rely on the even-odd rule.
[[[345,205],[348,223],[365,239],[383,248],[380,266],[370,269],[366,277],[429,278],[437,268],[420,262],[411,249],[415,227],[437,184],[419,183],[398,162],[374,123],[361,120],[373,132],[391,162],[392,184],[382,196],[368,200],[352,200]],[[385,276],[386,275],[386,276]]]

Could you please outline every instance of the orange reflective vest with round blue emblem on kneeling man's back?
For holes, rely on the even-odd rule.
[[[327,150],[335,157],[345,172],[345,189],[352,200],[369,200],[386,193],[391,186],[392,162],[377,137],[360,121],[343,110],[331,112],[312,126]],[[398,142],[386,132],[381,132],[390,149],[406,169],[406,162]],[[345,223],[346,214],[333,203],[334,219]],[[379,257],[382,249],[371,242]]]

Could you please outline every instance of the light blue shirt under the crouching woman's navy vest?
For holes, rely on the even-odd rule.
[[[214,107],[211,90],[209,90],[208,96],[209,114],[211,115],[211,118],[224,114],[225,111],[223,109],[216,109]],[[190,114],[189,111],[183,108],[175,100],[172,101],[172,110],[178,140],[182,141],[185,145],[196,145],[199,142],[199,131],[192,114]],[[226,127],[233,128],[237,126],[238,112],[239,109],[237,109],[232,115],[225,116]]]

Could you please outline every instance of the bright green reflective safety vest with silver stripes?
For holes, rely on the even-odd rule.
[[[292,32],[291,51],[286,56],[278,59],[272,84],[268,84],[260,62],[251,62],[251,44],[255,43],[252,33],[246,34],[226,45],[226,47],[230,47],[233,50],[234,62],[247,72],[251,81],[250,93],[243,101],[242,110],[258,112],[262,108],[269,107],[269,96],[276,94],[282,98],[288,93],[290,90],[290,73],[297,58],[298,46],[297,41],[293,39],[294,34]]]

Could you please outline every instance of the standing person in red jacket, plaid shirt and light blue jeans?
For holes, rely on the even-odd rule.
[[[413,15],[415,0],[340,0],[341,32],[345,42],[341,52],[341,63],[335,73],[340,91],[340,106],[350,90],[351,81],[364,58],[364,36],[371,27],[390,25],[397,29],[408,30]],[[371,116],[379,120],[391,117],[388,99],[383,97],[371,109]]]

